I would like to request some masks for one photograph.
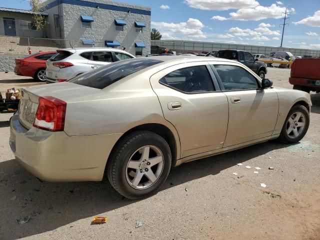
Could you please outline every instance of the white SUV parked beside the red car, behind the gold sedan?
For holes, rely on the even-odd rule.
[[[66,81],[111,62],[134,57],[126,51],[110,47],[60,49],[46,61],[46,83]]]

